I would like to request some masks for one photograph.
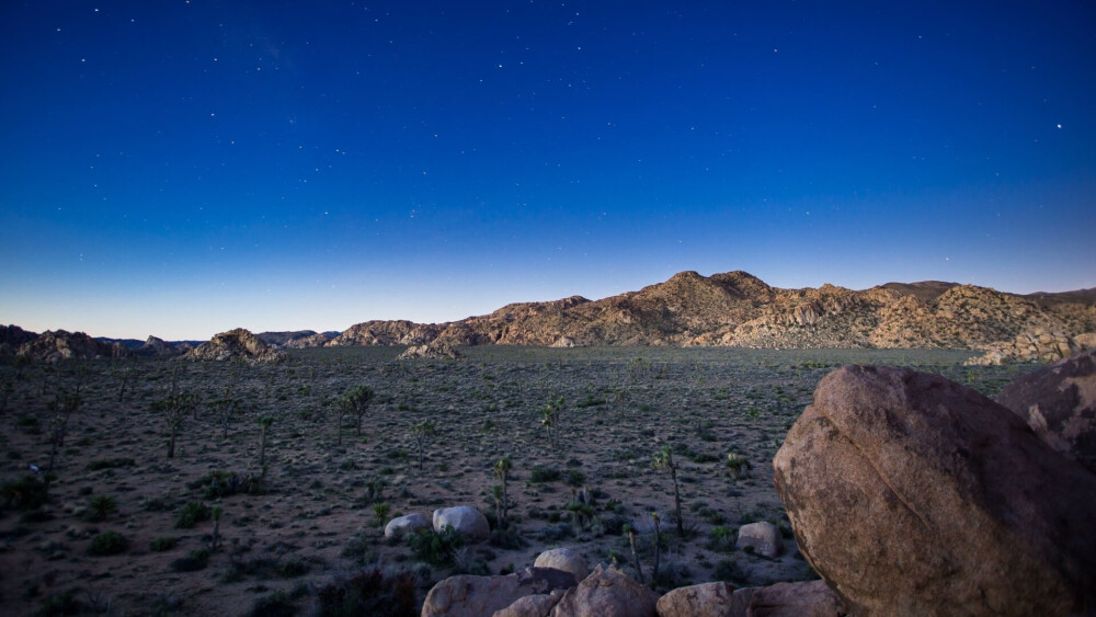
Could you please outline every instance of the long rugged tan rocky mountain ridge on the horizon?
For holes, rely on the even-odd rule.
[[[507,305],[441,324],[369,321],[328,345],[677,345],[749,347],[989,349],[1041,329],[1096,331],[1096,306],[1078,292],[1038,298],[955,283],[852,290],[770,287],[745,272],[675,274],[601,300],[573,296]],[[1080,345],[1074,345],[1074,349]]]

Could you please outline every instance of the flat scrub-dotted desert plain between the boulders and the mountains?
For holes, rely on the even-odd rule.
[[[412,572],[421,603],[448,575],[520,570],[557,546],[629,573],[638,557],[650,581],[652,513],[658,591],[810,579],[772,459],[822,376],[907,366],[992,397],[1034,368],[924,350],[481,346],[398,362],[401,351],[0,365],[0,612],[336,615],[322,591],[366,565]],[[375,392],[359,426],[340,404],[356,386]],[[560,398],[552,447],[543,410]],[[665,446],[684,536],[670,471],[653,465]],[[734,473],[729,454],[752,469]],[[389,518],[450,505],[498,525],[504,456],[509,525],[491,541],[385,538]],[[734,548],[757,521],[784,532],[780,557]]]

